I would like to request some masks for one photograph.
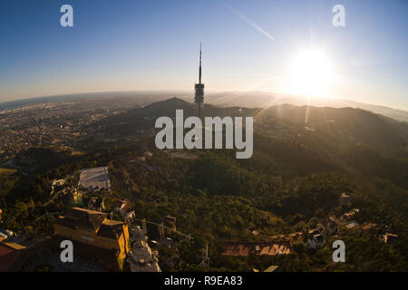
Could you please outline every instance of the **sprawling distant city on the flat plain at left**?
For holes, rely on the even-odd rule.
[[[22,150],[34,146],[51,146],[74,154],[95,142],[114,141],[117,133],[102,131],[99,121],[134,108],[134,102],[83,100],[81,102],[50,102],[27,104],[21,108],[0,111],[0,162],[7,166],[30,171],[18,158]],[[92,136],[90,138],[90,136]]]

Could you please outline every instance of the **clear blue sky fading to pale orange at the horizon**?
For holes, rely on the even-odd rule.
[[[65,4],[73,27],[60,24]],[[334,5],[345,27],[333,25]],[[309,80],[319,67],[296,56],[316,51],[333,75],[325,97],[408,110],[407,13],[406,0],[2,0],[0,102],[193,92],[202,43],[206,92],[293,93],[293,73]]]

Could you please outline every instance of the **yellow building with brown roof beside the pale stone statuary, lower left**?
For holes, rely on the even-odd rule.
[[[72,208],[54,223],[55,234],[92,247],[112,250],[119,266],[131,250],[129,227],[122,221],[108,219],[108,214]]]

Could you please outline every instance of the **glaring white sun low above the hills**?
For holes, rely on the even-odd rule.
[[[302,51],[290,65],[289,92],[308,97],[327,96],[333,76],[333,64],[325,52]]]

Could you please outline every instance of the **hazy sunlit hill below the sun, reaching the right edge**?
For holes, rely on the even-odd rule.
[[[379,150],[403,151],[408,144],[408,123],[361,109],[281,105],[263,111],[263,117],[282,118],[338,140]]]

